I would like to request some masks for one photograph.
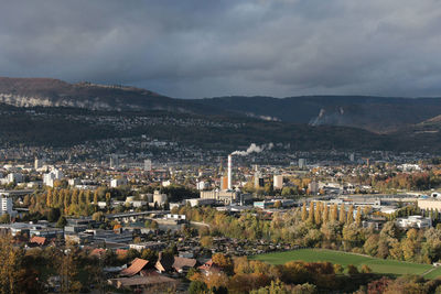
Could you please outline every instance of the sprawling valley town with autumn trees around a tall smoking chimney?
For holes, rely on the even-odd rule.
[[[229,288],[220,277],[233,265],[224,263],[270,252],[327,248],[392,258],[391,244],[370,248],[378,233],[392,226],[421,235],[440,222],[438,157],[373,152],[323,161],[302,152],[287,165],[257,164],[272,159],[272,148],[251,144],[213,165],[153,157],[133,163],[121,154],[101,162],[30,161],[29,154],[13,159],[3,151],[10,160],[1,168],[0,231],[26,255],[64,248],[82,252],[80,262],[96,268],[94,276],[45,270],[34,287],[154,292],[197,283]],[[310,231],[301,232],[302,226]],[[343,229],[341,237],[330,229],[336,235]],[[66,261],[69,253],[58,254],[75,268]],[[418,248],[397,254],[394,259],[428,263],[429,272],[439,264],[438,253],[422,255]],[[207,280],[213,271],[223,275]]]

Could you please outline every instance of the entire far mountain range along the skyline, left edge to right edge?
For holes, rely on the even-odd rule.
[[[376,133],[392,133],[441,115],[441,98],[233,96],[185,100],[135,87],[69,84],[51,78],[0,77],[0,102],[17,107],[162,110],[229,118],[234,115],[310,126],[361,128]]]

